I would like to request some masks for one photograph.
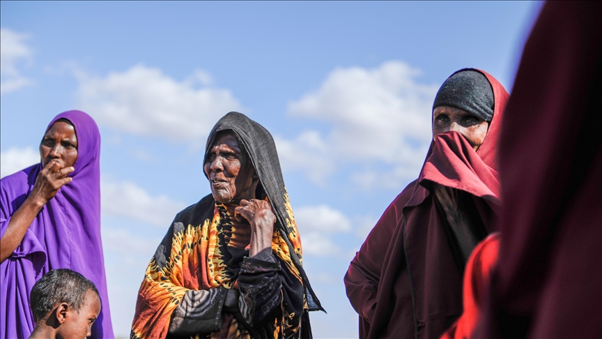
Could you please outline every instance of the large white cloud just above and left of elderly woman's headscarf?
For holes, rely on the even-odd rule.
[[[75,74],[82,110],[99,123],[134,135],[203,144],[224,114],[248,111],[229,89],[211,86],[210,75],[202,70],[183,82],[142,64],[106,77],[93,77],[81,70]]]

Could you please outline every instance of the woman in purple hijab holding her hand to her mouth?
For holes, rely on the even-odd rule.
[[[100,133],[80,111],[52,119],[41,163],[0,181],[0,338],[28,338],[33,284],[51,269],[92,280],[102,311],[91,338],[114,338],[100,240]]]

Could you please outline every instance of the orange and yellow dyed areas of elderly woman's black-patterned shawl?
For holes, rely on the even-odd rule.
[[[293,244],[295,255],[301,257],[300,238],[288,196],[285,195],[284,199],[289,217],[286,219],[288,240]],[[226,248],[233,227],[231,216],[219,202],[213,204],[211,214],[213,216],[206,218],[201,224],[189,224],[180,227],[181,229],[178,229],[178,223],[174,221],[169,255],[164,248],[163,264],[157,264],[157,255],[155,255],[146,269],[139,290],[131,338],[165,338],[171,314],[176,310],[187,290],[230,288],[233,285],[233,278],[236,277],[226,265],[231,259]],[[157,249],[157,253],[160,249]],[[272,253],[284,263],[289,274],[302,285],[300,273],[291,259],[289,247],[276,227],[272,236]],[[273,326],[270,326],[274,329],[274,338],[291,338],[291,334],[297,333],[300,326],[295,312],[291,312],[291,308],[287,307],[284,301],[285,298],[281,298],[281,317],[274,319]],[[302,309],[298,312],[303,312],[304,309],[307,309],[307,303],[303,299]],[[293,322],[293,319],[296,321]],[[231,319],[226,331],[227,333],[223,333],[224,331],[213,333],[211,337],[250,338],[245,327],[240,326],[236,319]],[[201,338],[205,337],[201,336]]]

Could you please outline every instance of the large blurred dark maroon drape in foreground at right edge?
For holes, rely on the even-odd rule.
[[[475,338],[602,338],[602,3],[544,4],[500,135],[500,262]]]

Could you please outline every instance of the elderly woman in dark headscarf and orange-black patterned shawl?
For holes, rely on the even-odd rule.
[[[211,194],[178,213],[139,290],[131,338],[311,338],[321,310],[272,136],[230,112],[211,131]]]

